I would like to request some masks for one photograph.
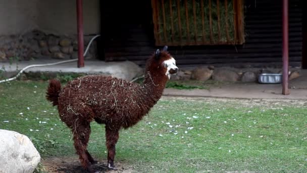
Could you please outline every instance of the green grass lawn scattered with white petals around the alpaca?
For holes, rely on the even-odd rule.
[[[43,159],[76,156],[68,128],[45,100],[46,81],[0,84],[0,128],[27,135]],[[120,132],[115,165],[136,172],[307,172],[307,101],[163,97]],[[106,160],[104,126],[88,146]]]

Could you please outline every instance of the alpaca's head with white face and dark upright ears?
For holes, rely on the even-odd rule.
[[[176,66],[176,60],[167,51],[167,46],[162,51],[159,49],[155,52],[155,55],[149,59],[147,63],[147,70],[156,73],[163,74],[170,79],[171,74],[176,74],[178,67]]]

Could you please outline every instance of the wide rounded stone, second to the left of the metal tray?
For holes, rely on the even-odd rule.
[[[238,81],[239,75],[230,69],[216,69],[213,73],[213,79],[216,81]]]

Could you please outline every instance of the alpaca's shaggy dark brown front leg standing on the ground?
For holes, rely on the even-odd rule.
[[[108,149],[108,168],[115,169],[114,157],[115,157],[115,145],[119,138],[119,129],[111,129],[106,126],[106,145]]]

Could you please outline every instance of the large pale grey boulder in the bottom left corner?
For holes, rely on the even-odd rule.
[[[30,139],[14,131],[0,129],[0,172],[32,173],[40,155]]]

